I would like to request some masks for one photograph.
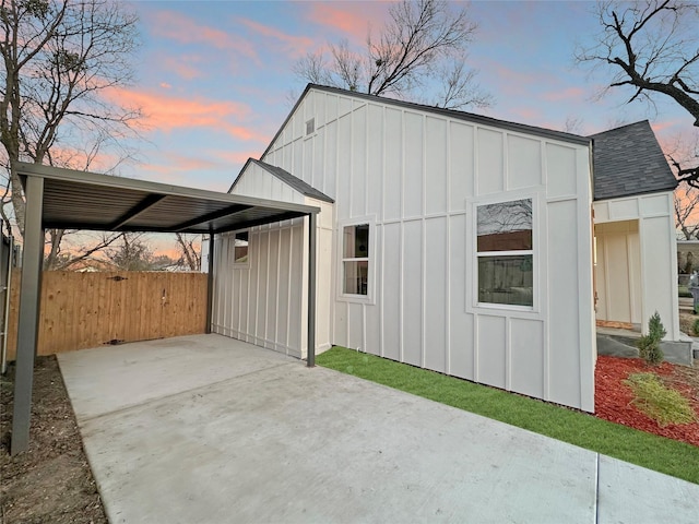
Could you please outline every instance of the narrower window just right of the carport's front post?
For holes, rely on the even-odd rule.
[[[369,294],[369,224],[342,229],[342,293]]]

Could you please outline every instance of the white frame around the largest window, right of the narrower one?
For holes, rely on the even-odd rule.
[[[518,200],[531,200],[532,201],[532,249],[530,250],[513,250],[513,251],[483,251],[478,252],[478,207],[489,204],[502,204],[507,202],[514,202]],[[470,228],[472,237],[472,308],[473,310],[486,310],[486,311],[513,311],[522,313],[540,313],[541,312],[541,298],[538,290],[538,272],[540,272],[540,258],[542,250],[540,247],[538,236],[538,221],[542,212],[540,207],[540,199],[536,193],[531,192],[508,192],[506,194],[499,194],[495,199],[478,199],[470,202],[472,227]],[[478,301],[478,259],[484,257],[508,257],[508,255],[531,255],[532,257],[532,306],[519,306],[512,303],[496,303],[496,302],[481,302]],[[538,315],[536,315],[538,317]]]

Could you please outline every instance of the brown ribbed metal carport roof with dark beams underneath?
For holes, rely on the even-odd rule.
[[[318,207],[16,163],[44,179],[44,228],[216,234],[309,215]]]

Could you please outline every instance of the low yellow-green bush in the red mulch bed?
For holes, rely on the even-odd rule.
[[[633,404],[659,426],[691,424],[697,419],[689,401],[678,391],[666,388],[655,373],[631,373],[624,381],[633,391]]]

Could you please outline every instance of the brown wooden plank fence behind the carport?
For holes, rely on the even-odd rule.
[[[16,352],[21,275],[12,275],[8,359]],[[38,354],[204,333],[206,274],[44,272]]]

